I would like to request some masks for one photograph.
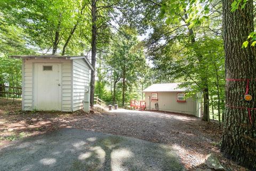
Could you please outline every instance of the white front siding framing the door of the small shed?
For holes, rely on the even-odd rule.
[[[23,60],[22,109],[33,110],[33,70],[34,63],[62,63],[62,111],[71,111],[71,61],[70,60]]]

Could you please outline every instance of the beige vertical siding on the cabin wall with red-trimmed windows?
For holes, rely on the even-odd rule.
[[[155,103],[158,103],[159,110],[161,111],[170,111],[177,113],[186,113],[189,115],[196,114],[196,100],[193,97],[186,99],[185,103],[177,102],[177,93],[176,92],[158,92],[158,101],[151,100],[151,93],[145,93],[146,97],[146,109],[155,110]]]

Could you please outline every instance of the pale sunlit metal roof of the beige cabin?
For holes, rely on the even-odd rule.
[[[164,84],[153,84],[142,92],[188,92],[186,88],[179,88],[181,83],[164,83]]]

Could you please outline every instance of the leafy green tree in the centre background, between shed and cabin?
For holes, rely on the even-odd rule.
[[[123,26],[122,30],[113,34],[108,53],[98,58],[95,93],[104,101],[122,105],[122,101],[126,103],[141,98],[143,82],[140,80],[146,75],[147,66],[143,44],[138,41],[137,35],[134,29]]]

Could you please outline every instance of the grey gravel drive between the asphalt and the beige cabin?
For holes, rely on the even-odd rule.
[[[179,151],[186,168],[191,170],[201,165],[207,154],[219,152],[217,145],[221,139],[218,124],[167,112],[118,109],[81,117],[70,125],[88,131],[172,145]]]

